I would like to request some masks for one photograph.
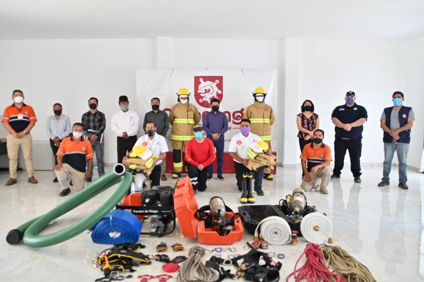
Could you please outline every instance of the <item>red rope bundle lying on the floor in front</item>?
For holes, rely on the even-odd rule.
[[[303,255],[306,256],[306,263],[301,268],[297,269],[298,263]],[[295,278],[295,282],[301,281],[302,279],[305,279],[307,282],[333,282],[334,280],[336,282],[346,282],[343,276],[327,268],[324,264],[324,257],[320,246],[312,243],[306,244],[305,250],[294,265],[294,271],[287,276],[286,282],[288,282],[292,275]],[[331,277],[333,279],[331,279]]]

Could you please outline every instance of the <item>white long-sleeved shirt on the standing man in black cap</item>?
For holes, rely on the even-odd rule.
[[[111,128],[118,137],[122,137],[122,134],[126,132],[128,136],[135,136],[138,132],[138,115],[136,112],[128,110],[123,112],[119,110],[112,116]]]

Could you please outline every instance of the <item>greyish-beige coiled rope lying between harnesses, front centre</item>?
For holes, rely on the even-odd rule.
[[[215,272],[207,268],[201,261],[205,249],[194,246],[188,251],[187,260],[181,265],[177,276],[178,282],[214,281]]]

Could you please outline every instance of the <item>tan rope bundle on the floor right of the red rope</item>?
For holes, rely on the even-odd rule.
[[[369,269],[339,246],[321,245],[327,266],[346,277],[348,282],[375,282]]]

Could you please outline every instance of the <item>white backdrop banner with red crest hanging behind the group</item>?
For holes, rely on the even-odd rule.
[[[232,136],[239,133],[240,121],[246,107],[253,103],[252,92],[257,87],[267,91],[265,102],[277,105],[277,70],[152,70],[136,71],[138,114],[141,119],[152,111],[151,99],[160,99],[160,109],[167,112],[177,103],[178,89],[185,87],[191,93],[190,103],[196,105],[200,114],[210,112],[210,100],[218,98],[220,111],[228,117],[228,131],[225,134],[225,149]],[[279,111],[274,109],[275,119]],[[274,127],[274,126],[273,126]],[[171,126],[166,139],[170,142]],[[272,128],[272,144],[278,144],[276,128]],[[171,148],[171,146],[169,146]]]

